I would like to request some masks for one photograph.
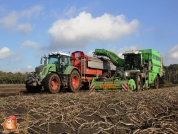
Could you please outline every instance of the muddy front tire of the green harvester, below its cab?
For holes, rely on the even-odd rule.
[[[135,74],[135,84],[136,84],[136,91],[143,90],[143,82],[139,72]]]

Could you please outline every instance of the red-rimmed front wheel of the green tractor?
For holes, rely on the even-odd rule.
[[[61,80],[59,76],[55,73],[48,74],[44,80],[44,90],[56,94],[60,91],[60,88]]]

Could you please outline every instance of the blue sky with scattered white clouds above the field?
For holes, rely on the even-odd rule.
[[[164,65],[178,63],[177,0],[1,0],[0,70],[29,72],[50,52],[121,56],[155,49]]]

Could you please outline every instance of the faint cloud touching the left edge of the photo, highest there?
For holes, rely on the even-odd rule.
[[[3,25],[3,28],[8,30],[14,30],[14,26],[17,24],[18,15],[15,11],[11,12],[7,16],[0,19],[0,24]]]

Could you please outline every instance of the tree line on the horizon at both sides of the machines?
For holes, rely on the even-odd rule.
[[[178,64],[164,66],[165,75],[160,83],[178,84]],[[0,84],[24,84],[29,73],[12,73],[0,71]]]

